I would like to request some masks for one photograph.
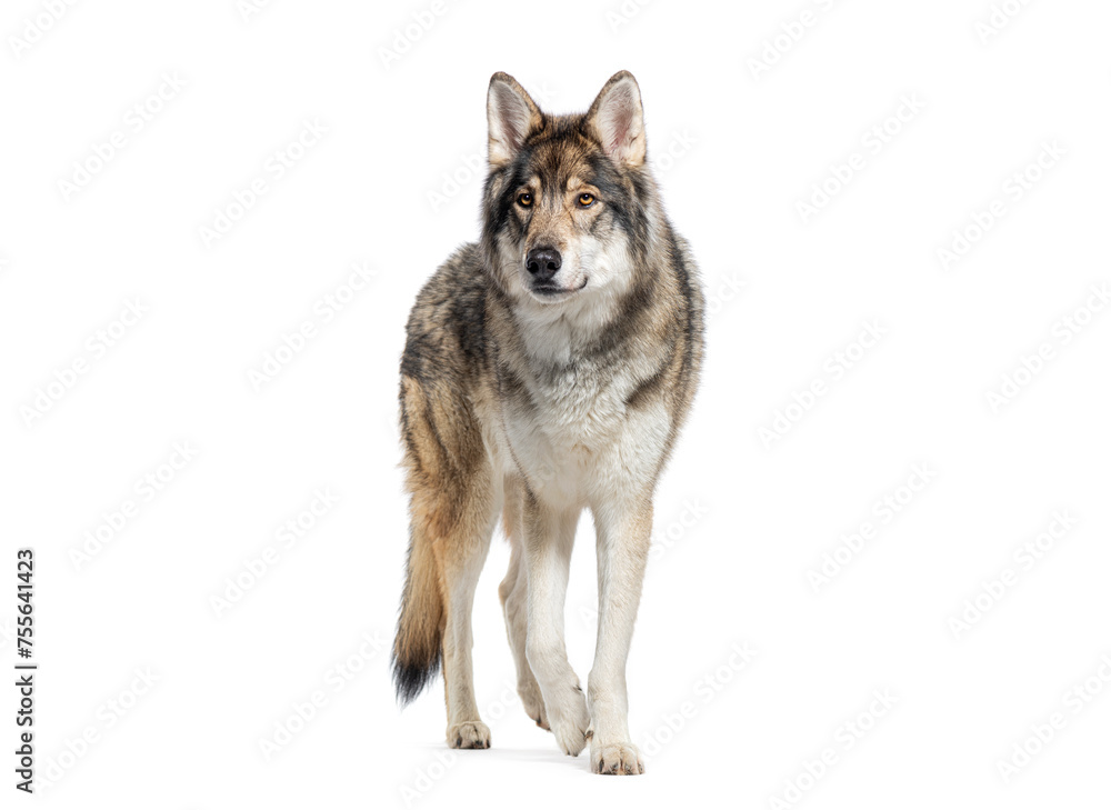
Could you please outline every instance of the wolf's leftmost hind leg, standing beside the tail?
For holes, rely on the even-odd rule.
[[[463,509],[452,536],[437,549],[443,571],[443,690],[451,748],[490,748],[490,729],[474,700],[471,607],[497,521],[498,493],[491,483],[489,469],[483,469],[471,476],[466,491],[456,493]]]

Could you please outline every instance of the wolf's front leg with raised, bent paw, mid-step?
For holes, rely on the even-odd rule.
[[[578,508],[558,509],[524,497],[524,560],[528,632],[524,653],[540,684],[548,724],[563,753],[578,757],[587,744],[590,714],[579,678],[567,660],[563,603],[571,566]]]

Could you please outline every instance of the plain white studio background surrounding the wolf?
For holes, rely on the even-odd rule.
[[[1105,804],[1111,314],[1081,312],[1081,331],[1061,336],[1111,279],[1111,9],[1009,0],[1017,13],[989,34],[989,0],[444,3],[276,0],[244,19],[233,0],[79,2],[57,20],[50,3],[4,4],[0,628],[10,668],[14,549],[33,547],[46,806]],[[408,42],[413,14],[433,21]],[[777,49],[784,26],[798,38]],[[521,711],[500,537],[474,611],[491,750],[449,756],[440,683],[401,713],[387,652],[359,652],[361,638],[392,639],[403,323],[436,266],[478,234],[468,156],[484,158],[489,77],[508,71],[570,111],[625,68],[713,307],[629,662],[630,726],[649,754],[635,780],[591,776]],[[136,131],[128,111],[163,73],[184,87]],[[903,97],[924,106],[889,121],[874,153],[869,132]],[[327,134],[276,180],[267,160],[314,120]],[[118,130],[126,144],[63,192]],[[1012,176],[1045,143],[1063,154],[1030,169],[1019,199]],[[854,153],[804,222],[798,203],[838,186]],[[206,244],[201,227],[258,177],[268,193]],[[1005,213],[943,262],[994,200]],[[347,294],[352,262],[373,279],[324,322],[316,308]],[[87,339],[136,300],[147,313],[93,357]],[[252,386],[306,320],[314,336]],[[860,357],[865,322],[883,334]],[[992,407],[1042,343],[1052,358]],[[834,379],[827,362],[843,351],[857,361]],[[80,359],[87,372],[34,411]],[[762,441],[814,380],[824,396]],[[134,482],[176,442],[196,457],[146,500]],[[915,464],[932,480],[883,522],[873,504],[900,497]],[[322,488],[339,501],[287,548],[276,532]],[[74,557],[128,500],[138,516]],[[1060,510],[1075,526],[1028,570],[1015,550]],[[875,534],[815,589],[809,572],[862,521]],[[584,519],[568,600],[580,677],[592,540]],[[268,547],[277,561],[218,617],[212,597]],[[983,596],[1008,568],[1002,596]],[[987,609],[955,631],[978,596]],[[740,668],[743,644],[754,656]],[[359,671],[337,681],[349,659]],[[147,668],[154,684],[131,693]],[[1069,702],[1085,681],[1089,699]],[[894,706],[853,737],[845,723],[875,690]],[[314,691],[323,707],[290,723]],[[1037,748],[1031,724],[1054,712],[1063,728],[1004,779],[999,763]],[[267,759],[276,723],[298,733]],[[808,778],[827,748],[835,764]]]

